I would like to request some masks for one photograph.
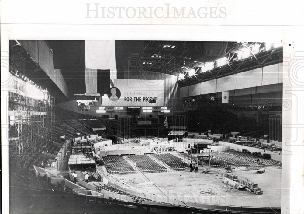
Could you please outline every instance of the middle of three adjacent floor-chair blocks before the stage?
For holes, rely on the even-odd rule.
[[[165,167],[146,155],[128,155],[127,157],[136,163],[137,167],[144,173],[167,171]]]

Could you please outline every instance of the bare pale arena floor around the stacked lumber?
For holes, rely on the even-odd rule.
[[[116,176],[157,201],[174,201],[177,204],[195,207],[199,207],[199,203],[228,206],[280,207],[282,169],[267,167],[265,173],[258,174],[257,170],[244,171],[244,168],[236,168],[233,174],[239,176],[239,179],[246,178],[257,183],[258,187],[264,191],[262,195],[235,188],[231,192],[226,192],[227,189],[223,188],[224,183],[219,178],[225,171],[222,168],[217,168],[219,172],[218,178],[216,178],[215,174],[202,173],[205,167],[199,167],[198,173],[185,170],[174,173],[116,174]],[[130,182],[135,181],[134,179],[136,182]],[[143,182],[150,182],[150,184],[146,186],[140,185]]]

